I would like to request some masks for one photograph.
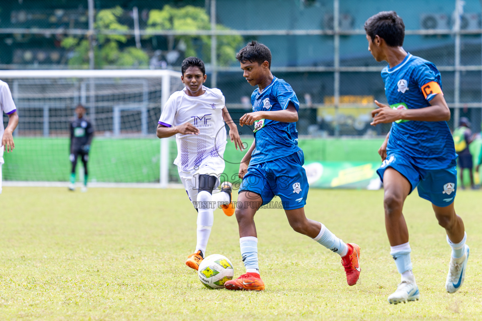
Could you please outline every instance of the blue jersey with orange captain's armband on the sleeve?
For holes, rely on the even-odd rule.
[[[442,94],[440,72],[431,62],[407,54],[402,63],[382,70],[385,95],[394,109],[424,108],[437,94]],[[417,167],[442,169],[455,154],[454,140],[445,121],[397,120],[388,138],[387,153],[411,156]]]

